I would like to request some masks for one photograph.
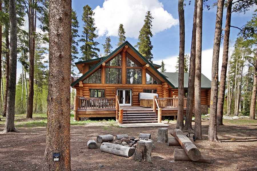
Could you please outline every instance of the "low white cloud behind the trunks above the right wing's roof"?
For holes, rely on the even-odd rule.
[[[206,49],[202,51],[202,74],[204,74],[208,79],[212,78],[212,53],[213,49]],[[219,56],[219,79],[222,65],[222,53],[223,48],[220,48],[220,56]],[[190,54],[189,54],[190,55]],[[163,59],[165,64],[166,72],[176,72],[176,62],[178,56],[170,56]],[[154,60],[154,64],[161,65],[162,60]]]

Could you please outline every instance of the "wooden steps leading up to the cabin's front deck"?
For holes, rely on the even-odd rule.
[[[123,123],[155,123],[157,115],[152,109],[124,110]]]

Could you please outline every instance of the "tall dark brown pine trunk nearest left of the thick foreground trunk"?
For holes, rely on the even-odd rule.
[[[34,32],[36,31],[34,20],[35,17],[35,8],[33,7],[34,1],[29,0],[29,96],[28,96],[28,105],[27,105],[27,119],[32,118],[33,114],[33,98],[34,98],[34,57],[35,57],[35,36]]]

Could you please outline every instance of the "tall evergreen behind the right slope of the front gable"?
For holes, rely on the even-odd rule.
[[[138,36],[138,42],[135,47],[138,47],[138,52],[144,56],[150,63],[152,63],[152,42],[150,38],[152,37],[152,15],[150,11],[147,11],[145,19],[144,19],[144,25],[139,31]]]

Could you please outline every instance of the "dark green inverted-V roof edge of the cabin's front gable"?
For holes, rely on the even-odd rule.
[[[164,76],[162,75],[156,68],[154,68],[154,66],[148,62],[148,60],[146,60],[146,58],[144,58],[144,56],[142,56],[128,41],[124,42],[121,46],[119,46],[117,49],[115,49],[112,53],[110,53],[108,56],[106,56],[105,58],[103,58],[103,60],[101,60],[99,63],[97,63],[93,68],[91,68],[89,71],[87,71],[85,74],[83,74],[78,80],[76,80],[75,82],[73,82],[71,84],[71,87],[75,86],[76,84],[78,84],[80,81],[82,81],[84,78],[86,78],[87,76],[89,76],[91,74],[91,72],[93,70],[95,70],[96,68],[98,68],[99,66],[101,66],[101,64],[103,62],[106,62],[109,58],[111,58],[113,56],[113,54],[115,54],[116,52],[118,52],[119,50],[121,50],[125,45],[128,45],[132,50],[134,50],[134,52],[136,52],[136,54],[138,56],[140,56],[144,62],[146,62],[146,64],[149,64],[149,66],[157,73],[159,74],[171,87],[174,88],[174,85]]]

